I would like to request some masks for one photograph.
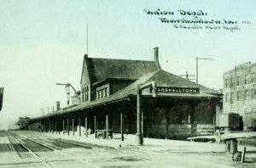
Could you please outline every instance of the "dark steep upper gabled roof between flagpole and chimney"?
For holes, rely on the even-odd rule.
[[[88,63],[93,83],[107,78],[137,80],[149,72],[158,70],[154,61],[88,58]]]

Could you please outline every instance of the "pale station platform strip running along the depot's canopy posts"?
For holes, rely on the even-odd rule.
[[[28,132],[28,131],[18,131]],[[32,132],[32,131],[29,131]],[[124,135],[124,141],[121,141],[120,134],[113,134],[113,138],[96,138],[95,134],[90,134],[88,137],[85,135],[79,136],[79,132],[70,132],[69,136],[67,132],[63,134],[61,132],[32,132],[37,133],[38,136],[46,136],[49,138],[61,138],[71,141],[77,141],[81,143],[90,143],[102,147],[109,148],[125,148],[125,149],[142,149],[143,151],[155,151],[155,152],[167,152],[172,154],[210,154],[210,153],[224,153],[224,144],[218,143],[195,143],[189,141],[170,140],[170,139],[158,139],[158,138],[143,138],[143,145],[137,145],[137,136],[134,134]],[[255,148],[256,150],[256,148]]]

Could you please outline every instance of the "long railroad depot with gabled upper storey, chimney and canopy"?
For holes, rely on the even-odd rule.
[[[83,126],[173,139],[212,134],[221,95],[162,70],[158,58],[158,48],[154,61],[84,55],[80,104],[33,118],[30,129],[81,135]]]

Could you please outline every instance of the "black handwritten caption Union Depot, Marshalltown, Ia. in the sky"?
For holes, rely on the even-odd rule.
[[[183,30],[211,30],[211,31],[241,31],[240,25],[250,25],[247,20],[237,21],[225,18],[214,19],[203,10],[186,11],[186,10],[156,10],[143,9],[151,16],[156,16],[160,23],[172,25],[175,29]]]

